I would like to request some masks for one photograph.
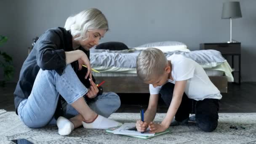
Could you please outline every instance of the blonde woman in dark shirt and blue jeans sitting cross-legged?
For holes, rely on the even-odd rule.
[[[119,96],[99,91],[89,61],[90,48],[107,31],[104,14],[90,8],[69,17],[64,28],[48,29],[40,36],[14,91],[16,114],[25,125],[57,124],[59,134],[68,135],[82,124],[98,129],[119,124],[106,118],[120,107]],[[86,71],[80,71],[83,64]]]

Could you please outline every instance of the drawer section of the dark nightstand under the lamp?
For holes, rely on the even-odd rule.
[[[220,51],[221,54],[240,54],[241,43],[202,43],[200,45],[201,50],[213,49]]]

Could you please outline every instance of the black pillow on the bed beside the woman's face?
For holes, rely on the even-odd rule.
[[[121,51],[129,49],[127,45],[121,42],[106,42],[96,46],[95,49],[106,49],[110,51]]]

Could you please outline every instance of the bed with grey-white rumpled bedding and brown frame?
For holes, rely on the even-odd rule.
[[[100,72],[93,72],[96,83],[105,81],[102,85],[104,92],[149,93],[149,85],[139,80],[136,75],[136,56],[148,47],[159,48],[166,57],[181,54],[197,61],[221,93],[227,93],[227,83],[234,81],[232,69],[219,51],[190,51],[184,43],[168,41],[149,43],[120,51],[110,51],[105,47],[92,49],[91,65]]]

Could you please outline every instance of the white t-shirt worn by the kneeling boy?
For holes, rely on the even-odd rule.
[[[197,62],[179,54],[173,54],[167,59],[171,61],[171,75],[173,77],[173,81],[168,79],[168,82],[175,84],[175,81],[187,80],[184,92],[189,99],[195,99],[196,101],[203,99],[221,99],[220,91],[213,85],[203,67]],[[161,88],[162,86],[154,88],[153,85],[150,84],[149,92],[150,94],[159,94]]]

